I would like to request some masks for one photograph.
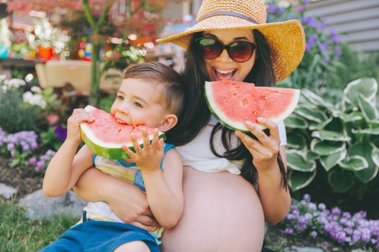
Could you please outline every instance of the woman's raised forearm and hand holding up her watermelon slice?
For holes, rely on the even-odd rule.
[[[240,131],[236,131],[236,135],[253,156],[253,164],[258,171],[259,196],[265,221],[276,224],[283,220],[291,205],[290,192],[288,188],[283,187],[277,162],[279,149],[284,152],[285,147],[279,148],[279,132],[274,122],[266,119],[259,119],[258,122],[270,130],[270,136],[267,136],[259,127],[248,123],[246,126],[258,140]],[[284,166],[286,167],[286,164]]]

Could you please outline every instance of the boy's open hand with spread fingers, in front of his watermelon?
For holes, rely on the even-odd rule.
[[[130,135],[136,153],[125,145],[122,146],[122,149],[124,149],[126,154],[140,167],[141,171],[160,171],[160,162],[164,155],[164,144],[163,139],[159,139],[158,129],[154,128],[153,130],[152,144],[150,144],[149,135],[145,129],[142,130],[142,136],[144,138],[143,148],[138,144],[136,137],[133,134]]]

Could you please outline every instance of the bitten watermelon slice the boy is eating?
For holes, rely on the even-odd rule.
[[[133,133],[142,147],[142,129],[148,131],[150,141],[152,141],[153,128],[150,126],[120,124],[112,114],[90,105],[87,105],[84,110],[91,113],[95,121],[80,124],[81,138],[88,149],[99,156],[110,159],[130,158],[121,146],[126,145],[129,149],[134,151],[133,144],[130,140],[130,134]],[[166,136],[159,131],[159,138],[166,139]]]

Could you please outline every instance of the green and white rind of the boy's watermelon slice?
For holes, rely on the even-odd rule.
[[[90,112],[90,110],[92,108],[94,108],[94,107],[87,105],[84,109],[87,112]],[[106,145],[106,144],[101,143],[100,140],[97,140],[97,141],[95,141],[94,139],[92,140],[91,137],[88,136],[88,135],[90,135],[89,131],[90,131],[90,129],[88,128],[87,125],[80,124],[81,137],[82,137],[84,143],[86,144],[86,146],[88,147],[88,149],[90,151],[92,151],[93,153],[95,153],[101,157],[110,158],[110,159],[129,159],[130,158],[129,155],[127,155],[126,152],[122,149],[122,147],[121,147],[122,145],[112,144],[112,145],[109,145],[108,147],[105,147],[104,145]],[[163,140],[166,140],[166,135],[163,132],[159,131],[158,136],[159,136],[159,138],[163,138]],[[149,138],[150,138],[150,143],[151,143],[152,142],[152,134],[149,135]],[[144,146],[142,139],[140,141],[138,141],[138,143],[140,144],[141,147]],[[135,149],[134,149],[131,142],[129,145],[128,144],[125,144],[125,145],[130,150],[135,152]],[[111,147],[111,146],[113,146],[113,147]]]

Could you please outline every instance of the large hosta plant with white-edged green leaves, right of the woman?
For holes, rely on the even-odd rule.
[[[302,90],[298,107],[285,120],[293,191],[309,185],[317,172],[326,172],[335,191],[358,188],[353,194],[363,196],[362,188],[367,189],[379,167],[377,91],[375,79],[358,79],[343,90],[340,103],[331,104]]]

